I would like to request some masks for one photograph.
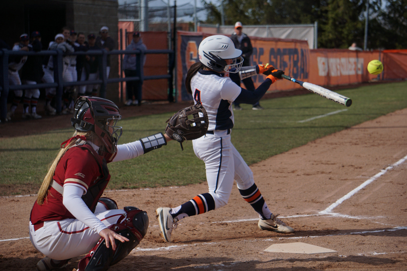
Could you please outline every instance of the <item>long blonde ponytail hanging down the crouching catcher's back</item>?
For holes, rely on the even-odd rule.
[[[94,133],[92,131],[87,131],[87,132],[80,132],[80,131],[75,131],[72,135],[72,137],[75,137],[76,135],[84,135],[86,137],[86,139],[89,140],[93,140],[94,138]],[[61,160],[62,156],[66,153],[66,151],[69,150],[70,147],[72,147],[73,145],[75,145],[75,141],[71,141],[69,144],[65,145],[64,148],[62,148],[57,157],[55,158],[54,162],[52,162],[47,175],[45,175],[44,180],[42,181],[42,185],[40,187],[40,190],[38,191],[38,195],[37,195],[37,203],[39,205],[42,205],[44,203],[44,200],[47,197],[47,193],[48,193],[48,189],[51,187],[52,185],[52,180],[54,177],[54,173],[55,173],[55,169],[56,166],[59,163],[59,160]]]

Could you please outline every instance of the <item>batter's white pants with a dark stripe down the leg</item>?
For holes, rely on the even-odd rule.
[[[228,203],[233,180],[240,190],[254,184],[253,173],[231,142],[227,131],[215,131],[192,141],[195,155],[205,162],[209,193],[215,200],[215,209]]]

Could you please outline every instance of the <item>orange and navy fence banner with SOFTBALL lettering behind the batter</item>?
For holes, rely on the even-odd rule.
[[[189,67],[198,61],[200,42],[213,34],[177,32],[177,95],[180,100],[192,100],[186,92],[185,76]],[[407,50],[351,51],[347,49],[310,50],[307,41],[250,37],[253,54],[251,65],[269,63],[285,75],[320,86],[338,86],[368,82],[370,80],[402,80],[407,78]],[[380,60],[384,71],[369,74],[367,64]],[[258,87],[265,76],[253,76]],[[244,84],[242,87],[245,88]],[[287,80],[278,80],[269,91],[286,91],[301,88]]]

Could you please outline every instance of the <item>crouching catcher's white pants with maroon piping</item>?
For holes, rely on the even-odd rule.
[[[98,203],[94,214],[107,227],[116,224],[125,210],[107,210]],[[45,221],[44,226],[34,230],[30,222],[30,240],[38,251],[46,256],[63,260],[87,254],[92,249],[100,235],[77,219]]]

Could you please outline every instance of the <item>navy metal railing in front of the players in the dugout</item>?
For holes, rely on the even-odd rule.
[[[135,54],[136,58],[136,76],[134,77],[122,77],[122,72],[120,72],[120,78],[108,78],[106,67],[108,64],[109,55],[125,55],[125,54]],[[99,96],[106,98],[107,84],[118,83],[125,81],[138,81],[140,84],[143,80],[154,80],[154,79],[168,79],[168,85],[172,86],[172,71],[168,69],[167,74],[144,76],[143,65],[141,60],[143,59],[143,54],[168,54],[169,59],[173,57],[174,51],[171,50],[146,50],[142,53],[140,50],[125,51],[125,50],[114,50],[108,52],[107,50],[89,50],[86,52],[74,52],[69,55],[98,55],[101,56],[101,65],[99,70],[99,79],[92,81],[75,81],[75,82],[64,82],[62,79],[63,62],[62,58],[64,54],[61,50],[49,50],[41,52],[26,52],[26,51],[11,51],[7,49],[0,49],[0,118],[3,120],[7,117],[7,100],[10,90],[16,89],[33,89],[33,88],[56,88],[56,109],[57,113],[61,112],[62,108],[62,93],[65,86],[79,86],[79,85],[94,85],[100,84]],[[11,86],[9,83],[9,57],[10,56],[53,56],[54,64],[54,83],[41,83],[36,85],[17,85]],[[120,69],[120,68],[119,68]],[[170,88],[172,91],[172,87]],[[123,93],[122,93],[123,94]]]

